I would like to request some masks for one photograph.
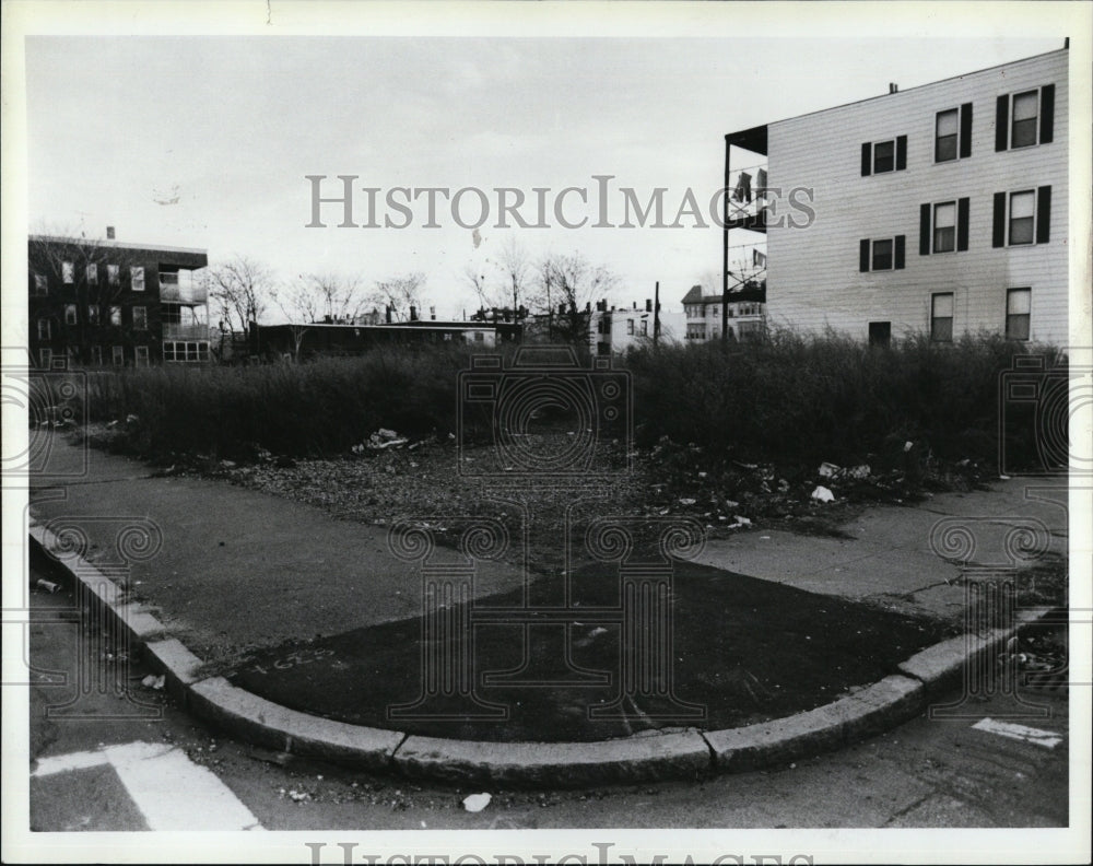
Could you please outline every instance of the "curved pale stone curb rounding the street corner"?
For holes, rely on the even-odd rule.
[[[369,770],[454,783],[584,787],[743,772],[838,749],[919,715],[929,701],[960,683],[971,666],[989,664],[1022,625],[1047,608],[1019,612],[1016,624],[983,635],[964,634],[916,653],[895,674],[833,703],[740,728],[677,728],[597,742],[487,742],[454,740],[350,725],[267,701],[223,677],[200,678],[201,659],[166,636],[163,624],[86,560],[55,554],[57,538],[33,518],[36,545],[84,585],[89,597],[142,647],[187,710],[279,751]]]

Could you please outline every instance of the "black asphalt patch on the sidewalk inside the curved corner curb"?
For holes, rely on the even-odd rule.
[[[657,672],[655,665],[634,667],[625,650],[611,613],[620,609],[620,586],[618,573],[602,566],[578,570],[567,622],[540,613],[527,628],[486,621],[491,610],[518,608],[519,592],[473,609],[456,606],[457,620],[462,612],[478,621],[466,657],[477,703],[437,680],[446,697],[415,711],[446,717],[390,712],[422,694],[426,653],[453,659],[460,652],[451,635],[427,637],[420,618],[265,650],[227,676],[275,703],[352,724],[475,740],[599,740],[682,725],[736,727],[809,710],[894,672],[947,636],[928,621],[686,563],[678,566],[670,601],[673,637],[661,644],[671,652],[648,657],[671,672]],[[564,593],[561,578],[537,588],[555,598]],[[637,671],[631,678],[624,658]],[[522,684],[487,676],[501,671]]]

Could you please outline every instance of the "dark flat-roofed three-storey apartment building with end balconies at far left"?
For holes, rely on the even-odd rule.
[[[43,367],[210,360],[203,249],[31,235],[30,347]]]

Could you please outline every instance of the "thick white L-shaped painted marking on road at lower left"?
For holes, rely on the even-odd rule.
[[[32,776],[108,763],[150,830],[261,830],[254,814],[207,766],[174,746],[129,742],[39,758]]]

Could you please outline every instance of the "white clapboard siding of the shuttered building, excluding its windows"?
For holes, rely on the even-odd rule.
[[[930,295],[954,293],[953,332],[1004,330],[1006,293],[1032,289],[1032,339],[1067,342],[1068,51],[781,120],[768,127],[769,184],[814,189],[808,229],[767,234],[767,312],[774,326],[826,327],[865,338],[928,331]],[[1054,141],[995,152],[996,97],[1055,85]],[[933,161],[938,112],[973,104],[972,155]],[[862,142],[907,136],[904,171],[861,176]],[[1051,187],[1050,241],[991,247],[994,194]],[[968,249],[919,255],[919,206],[967,197]],[[800,220],[798,214],[796,219]],[[862,238],[906,235],[903,270],[860,273]]]

